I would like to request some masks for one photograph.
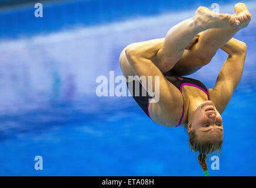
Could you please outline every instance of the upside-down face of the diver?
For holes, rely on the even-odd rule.
[[[191,127],[199,139],[223,140],[222,118],[211,100],[203,102],[195,110]]]

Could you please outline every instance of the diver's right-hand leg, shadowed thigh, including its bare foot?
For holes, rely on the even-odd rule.
[[[202,66],[207,65],[217,50],[237,33],[245,28],[251,20],[251,14],[245,4],[235,5],[235,14],[232,15],[240,21],[237,28],[208,29],[198,35],[198,42],[189,50],[184,51],[182,58],[175,64],[172,71],[180,75],[189,75]]]

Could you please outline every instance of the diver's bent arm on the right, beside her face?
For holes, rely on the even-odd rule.
[[[215,100],[220,113],[224,112],[242,78],[247,47],[244,42],[232,38],[221,49],[228,53],[228,58],[218,74],[214,88],[209,90],[210,99]]]

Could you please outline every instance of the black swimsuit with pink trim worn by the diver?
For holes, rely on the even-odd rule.
[[[208,100],[210,100],[209,95],[208,95],[208,89],[199,80],[181,77],[181,76],[174,76],[174,75],[171,75],[170,72],[164,73],[164,76],[167,80],[169,80],[169,82],[171,82],[173,85],[175,85],[176,88],[178,88],[181,93],[182,93],[182,86],[184,86],[184,85],[194,86],[194,87],[204,91],[207,94]],[[133,91],[135,91],[135,81],[133,81],[133,82],[134,82],[133,83],[133,87],[134,87]],[[127,83],[127,86],[128,86],[128,83]],[[141,107],[141,109],[144,110],[144,112],[148,115],[148,117],[150,117],[148,108],[149,108],[149,104],[152,100],[152,97],[148,94],[148,92],[147,92],[147,96],[141,96],[142,90],[144,90],[144,92],[147,92],[142,87],[141,83],[139,83],[139,92],[140,92],[139,96],[135,96],[134,95],[135,92],[131,93],[131,94],[132,94],[132,97],[135,99],[135,101],[138,103],[138,105]],[[184,116],[184,99],[183,99],[181,119],[179,119],[179,123],[176,127],[181,125],[183,116]],[[152,119],[152,118],[150,117],[150,119]]]

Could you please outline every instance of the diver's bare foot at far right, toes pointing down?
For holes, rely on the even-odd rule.
[[[239,29],[246,28],[251,21],[251,13],[248,11],[247,6],[241,2],[235,4],[235,14],[232,16],[235,16],[240,21]]]

